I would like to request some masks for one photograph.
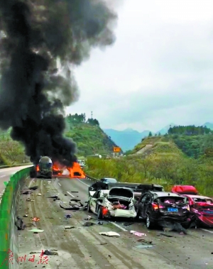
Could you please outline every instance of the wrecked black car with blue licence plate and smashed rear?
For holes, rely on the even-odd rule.
[[[173,192],[148,191],[136,204],[137,218],[146,219],[146,227],[152,229],[160,221],[172,221],[187,226],[190,223],[190,210],[185,197]]]

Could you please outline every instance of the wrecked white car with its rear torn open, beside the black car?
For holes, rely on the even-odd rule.
[[[97,190],[89,197],[88,211],[97,214],[99,219],[111,217],[136,217],[133,191],[126,187],[113,187],[111,190]]]

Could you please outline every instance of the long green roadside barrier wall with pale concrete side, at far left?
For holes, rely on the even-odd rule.
[[[18,269],[18,229],[15,226],[18,200],[31,168],[10,177],[0,204],[0,268]]]

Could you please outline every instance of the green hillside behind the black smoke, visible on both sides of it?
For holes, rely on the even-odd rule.
[[[85,114],[68,115],[65,118],[65,137],[77,143],[77,155],[84,156],[110,155],[116,144],[111,141],[97,119],[87,119]],[[0,165],[28,163],[30,158],[25,155],[23,146],[13,141],[8,131],[0,131]],[[36,146],[36,145],[35,145]]]

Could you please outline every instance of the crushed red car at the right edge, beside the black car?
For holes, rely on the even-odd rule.
[[[194,190],[194,194],[192,194],[192,190]],[[174,186],[173,192],[178,192],[186,197],[187,203],[190,205],[190,212],[195,213],[197,216],[198,225],[213,227],[212,198],[198,195],[197,190],[193,186]]]

